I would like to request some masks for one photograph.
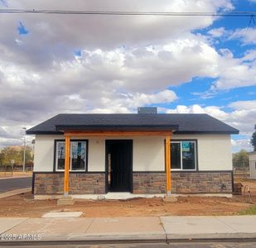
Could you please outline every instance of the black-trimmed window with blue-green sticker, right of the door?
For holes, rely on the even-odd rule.
[[[171,141],[171,169],[196,169],[196,141]]]

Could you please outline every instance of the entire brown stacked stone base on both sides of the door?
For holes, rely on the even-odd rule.
[[[35,194],[62,194],[64,173],[35,173]],[[70,194],[104,194],[105,173],[70,173]],[[165,172],[133,172],[133,193],[166,193]],[[232,193],[232,171],[171,172],[171,193]]]

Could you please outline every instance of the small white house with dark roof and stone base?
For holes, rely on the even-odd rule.
[[[230,135],[238,130],[207,114],[139,110],[59,114],[29,129],[35,197],[232,193]]]

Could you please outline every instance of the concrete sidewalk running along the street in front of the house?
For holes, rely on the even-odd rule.
[[[0,232],[1,241],[256,239],[256,216],[1,218]]]

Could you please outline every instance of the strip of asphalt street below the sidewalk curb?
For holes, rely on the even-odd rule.
[[[1,242],[0,242],[1,247]],[[62,244],[57,245],[55,242],[52,244],[43,245],[40,243],[36,244],[36,246],[4,246],[4,247],[66,247],[66,248],[110,248],[110,247],[118,247],[118,248],[255,248],[256,242],[177,242],[171,244],[157,244],[157,243],[145,243],[145,244],[109,244],[109,245],[69,245]]]

